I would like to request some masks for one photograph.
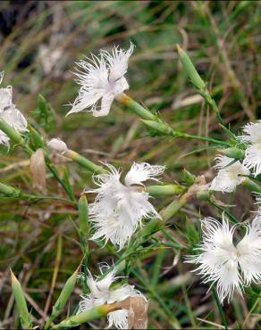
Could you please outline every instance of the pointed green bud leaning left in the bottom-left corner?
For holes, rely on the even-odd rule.
[[[23,329],[32,329],[32,321],[29,315],[29,311],[27,309],[27,304],[24,298],[24,294],[21,289],[21,284],[18,279],[13,275],[13,271],[11,271],[11,282],[12,282],[12,291],[14,295],[14,299],[16,302],[16,306],[18,309],[19,317],[21,320],[21,327]]]

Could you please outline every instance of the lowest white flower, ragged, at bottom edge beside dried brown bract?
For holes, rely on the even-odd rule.
[[[100,270],[103,275],[102,268]],[[94,279],[89,273],[87,285],[90,293],[81,295],[82,301],[80,301],[78,313],[93,309],[105,303],[123,301],[128,297],[142,296],[145,299],[142,293],[135,289],[134,285],[122,285],[117,286],[115,289],[111,288],[111,285],[118,279],[119,277],[115,277],[115,269],[102,279]],[[119,309],[108,313],[107,318],[109,327],[116,326],[118,329],[128,329],[129,311],[127,309]]]

